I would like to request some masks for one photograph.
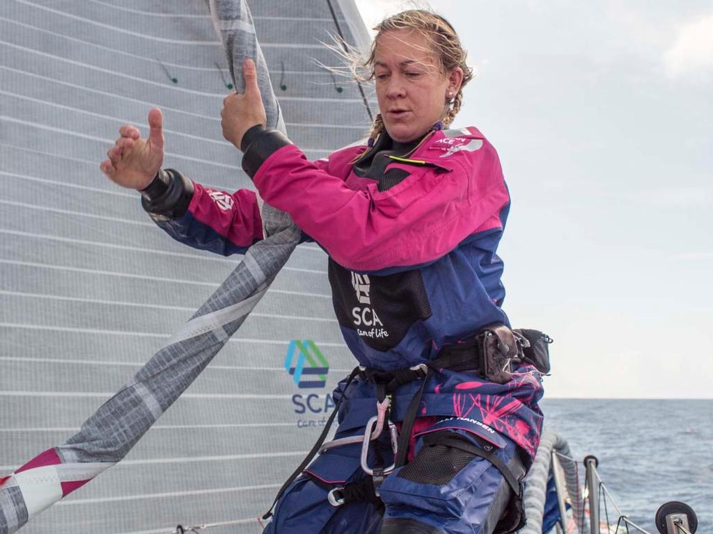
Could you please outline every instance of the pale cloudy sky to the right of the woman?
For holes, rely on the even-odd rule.
[[[713,6],[431,5],[476,70],[455,125],[500,155],[504,309],[555,340],[545,394],[713,398]]]

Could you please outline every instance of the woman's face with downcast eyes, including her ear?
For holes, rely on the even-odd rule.
[[[456,95],[463,71],[456,68],[444,75],[426,37],[414,30],[391,30],[376,43],[374,78],[386,132],[407,142],[443,117],[448,93]]]

